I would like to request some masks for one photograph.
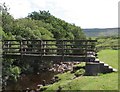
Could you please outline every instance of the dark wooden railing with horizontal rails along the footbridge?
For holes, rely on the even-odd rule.
[[[3,54],[83,55],[95,52],[96,40],[4,40]]]

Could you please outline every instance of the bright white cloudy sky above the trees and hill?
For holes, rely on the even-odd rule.
[[[81,28],[118,27],[119,0],[0,0],[14,18],[46,10],[57,18]]]

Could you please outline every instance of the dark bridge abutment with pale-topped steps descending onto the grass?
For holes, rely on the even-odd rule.
[[[94,62],[86,62],[85,66],[85,75],[87,76],[96,76],[98,73],[111,73],[117,72],[117,69],[105,64],[104,62],[96,59]]]

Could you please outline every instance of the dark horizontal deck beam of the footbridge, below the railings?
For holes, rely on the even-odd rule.
[[[92,62],[95,60],[95,56],[72,56],[72,55],[13,55],[13,54],[8,54],[8,55],[3,55],[3,58],[12,58],[12,59],[27,59],[27,60],[40,60],[40,61],[79,61],[79,62]]]

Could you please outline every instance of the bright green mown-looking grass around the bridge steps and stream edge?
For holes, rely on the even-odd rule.
[[[99,59],[113,68],[118,69],[118,51],[103,50],[99,52]],[[80,76],[75,79],[70,72],[58,74],[61,79],[53,85],[45,86],[48,90],[118,90],[118,72],[99,74],[99,76]]]

